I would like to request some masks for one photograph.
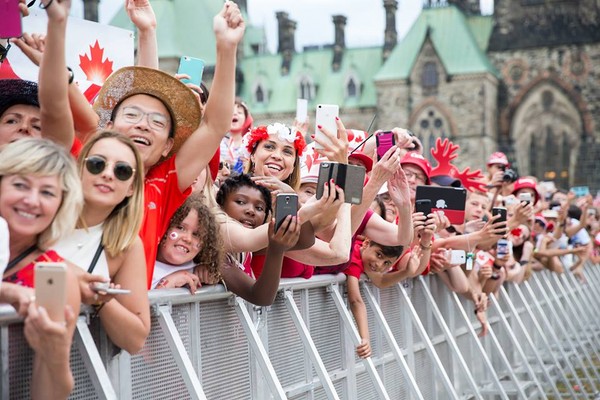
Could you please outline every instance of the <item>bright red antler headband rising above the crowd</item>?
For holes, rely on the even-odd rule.
[[[469,167],[462,171],[451,163],[458,154],[456,152],[460,149],[460,146],[452,143],[448,138],[442,142],[441,138],[437,138],[435,141],[435,148],[431,149],[431,155],[437,161],[435,168],[431,170],[431,176],[437,175],[449,175],[460,180],[464,188],[469,191],[485,192],[485,183],[481,181],[483,175],[481,170],[475,170],[471,172]]]

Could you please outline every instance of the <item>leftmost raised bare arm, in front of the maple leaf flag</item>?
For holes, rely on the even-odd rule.
[[[75,137],[73,116],[69,107],[70,77],[65,63],[65,35],[70,0],[48,2],[46,49],[40,65],[39,99],[42,136],[70,149]]]

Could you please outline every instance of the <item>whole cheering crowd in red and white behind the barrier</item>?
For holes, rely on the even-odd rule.
[[[519,178],[503,153],[489,157],[484,176],[451,165],[458,146],[445,140],[424,149],[406,129],[393,128],[394,146],[378,157],[374,137],[351,148],[339,118],[336,132],[318,126],[323,136],[308,145],[306,123],[255,121],[235,98],[244,20],[231,1],[214,17],[209,94],[158,70],[150,3],[126,0],[139,32],[138,65],[114,72],[90,107],[65,64],[69,3],[43,0],[46,36],[11,40],[39,65],[38,83],[0,80],[0,301],[25,318],[34,398],[72,390],[69,353],[81,304],[94,307],[115,345],[136,353],[150,332],[148,290],[195,293],[223,283],[270,305],[280,278],[343,273],[361,337],[356,352],[365,358],[363,274],[377,287],[439,276],[474,303],[484,335],[487,296],[504,282],[543,269],[570,270],[583,282],[586,261],[600,260],[591,196]],[[307,153],[316,155],[311,163]],[[334,180],[317,187],[325,161],[364,168],[360,204],[346,202]],[[426,185],[468,189],[464,222],[415,212],[417,187]],[[299,207],[276,226],[278,194],[296,194]],[[507,210],[506,220],[494,207]],[[453,250],[463,251],[462,263]],[[41,261],[68,266],[64,322],[36,305]]]

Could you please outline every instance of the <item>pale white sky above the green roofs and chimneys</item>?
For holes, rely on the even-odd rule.
[[[306,45],[333,43],[333,15],[341,14],[346,22],[346,45],[349,47],[383,44],[385,11],[383,0],[247,0],[250,21],[262,25],[267,33],[268,48],[277,49],[277,20],[275,12],[286,11],[298,23],[296,50]],[[124,1],[100,0],[100,22],[108,23]],[[396,29],[401,39],[410,29],[419,12],[422,0],[398,0]],[[490,14],[493,0],[481,0],[483,14]],[[72,14],[83,16],[83,2],[74,1]]]

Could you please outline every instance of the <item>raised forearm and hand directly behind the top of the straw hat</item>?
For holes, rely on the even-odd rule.
[[[138,30],[137,65],[158,69],[156,16],[148,0],[125,0],[125,10]]]

